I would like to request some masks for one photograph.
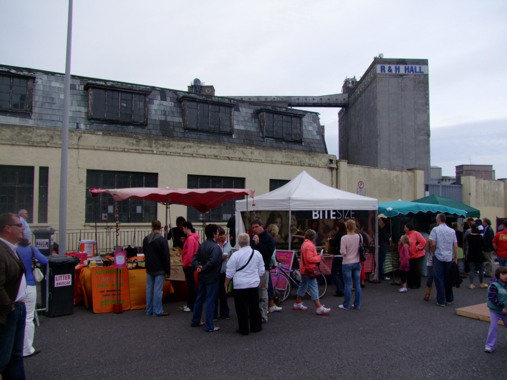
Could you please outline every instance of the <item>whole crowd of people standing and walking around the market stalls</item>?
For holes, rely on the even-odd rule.
[[[29,269],[37,262],[46,264],[48,259],[30,245],[30,235],[26,236],[26,230],[29,229],[27,217],[26,210],[20,210],[18,215],[0,215],[0,374],[6,378],[24,378],[23,358],[41,352],[33,348],[37,291]],[[232,241],[228,241],[222,227],[207,224],[204,229],[206,239],[201,243],[191,222],[184,217],[176,219],[176,227],[170,229],[168,239],[173,241],[174,247],[182,250],[183,270],[189,290],[184,311],[192,313],[192,327],[204,326],[207,332],[220,331],[214,322],[219,317],[231,319],[228,305],[231,288],[234,288],[234,308],[238,319],[236,331],[239,334],[262,331],[262,324],[268,322],[268,314],[282,310],[274,303],[270,276],[270,270],[277,264],[275,241],[279,236],[280,220],[273,215],[270,221],[272,223],[265,229],[261,219],[253,219],[250,224],[251,235],[240,234],[236,237],[235,233],[230,234],[231,240],[239,246],[234,252]],[[478,274],[479,287],[488,288],[491,326],[485,352],[491,353],[495,349],[498,320],[507,325],[507,220],[503,221],[496,234],[488,218],[466,219],[463,231],[460,231],[457,223],[452,228],[448,226],[445,214],[438,214],[435,221],[430,225],[427,236],[415,231],[411,223],[404,225],[405,234],[398,245],[402,280],[402,287],[398,291],[406,293],[409,288],[421,286],[424,257],[427,271],[424,299],[429,300],[434,283],[437,305],[440,307],[454,301],[453,273],[460,271],[466,274],[469,289],[475,289],[474,280]],[[379,219],[379,243],[384,242],[382,245],[385,246],[390,239],[386,231],[381,231],[386,222]],[[315,277],[322,259],[316,249],[319,231],[312,228],[303,231],[296,222],[292,225],[297,230],[295,232],[301,234],[298,236],[304,239],[299,262],[301,281],[293,309],[308,310],[303,305],[303,297],[309,290],[315,313],[326,315],[331,309],[320,302]],[[339,309],[359,310],[363,300],[361,288],[364,286],[364,265],[359,259],[359,247],[371,237],[364,236],[356,220],[338,220],[333,225],[335,231],[320,231],[320,234],[329,241],[334,253],[331,272],[337,289],[335,296],[344,297]],[[319,224],[312,223],[311,226],[316,229]],[[170,280],[169,244],[161,234],[160,221],[154,220],[151,227],[152,232],[142,243],[147,273],[146,314],[167,316],[169,312],[162,307],[162,286],[164,280]],[[382,234],[384,236],[381,238]],[[379,247],[379,257],[381,250],[382,247]],[[495,271],[492,252],[498,261]],[[194,273],[197,273],[198,290]],[[388,279],[382,270],[379,273],[380,279]],[[491,279],[489,284],[485,278]],[[202,322],[204,305],[205,321]]]

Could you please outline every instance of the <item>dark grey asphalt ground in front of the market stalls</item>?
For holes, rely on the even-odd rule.
[[[423,281],[425,279],[423,278]],[[478,280],[476,279],[476,282]],[[463,286],[466,285],[466,286]],[[218,332],[190,326],[184,303],[164,302],[167,317],[144,310],[40,316],[34,347],[25,359],[28,379],[493,379],[507,369],[507,337],[499,326],[496,351],[484,353],[489,323],[456,315],[455,309],[486,301],[486,289],[455,289],[455,302],[436,305],[424,289],[397,293],[389,281],[366,284],[361,310],[338,309],[343,298],[322,299],[332,311],[318,316],[292,310],[295,290],[283,310],[270,313],[264,330],[242,336],[234,300],[232,320]]]

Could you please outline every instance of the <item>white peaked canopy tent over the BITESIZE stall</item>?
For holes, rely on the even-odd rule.
[[[289,215],[293,211],[300,210],[375,210],[376,216],[378,200],[324,185],[303,171],[272,192],[254,197],[254,199],[236,201],[236,235],[246,231],[241,212],[260,210],[288,210]],[[337,218],[337,216],[330,218]],[[378,247],[376,236],[375,233],[375,246]],[[375,256],[377,255],[377,250],[375,250]],[[376,269],[375,278],[377,278],[377,273]]]

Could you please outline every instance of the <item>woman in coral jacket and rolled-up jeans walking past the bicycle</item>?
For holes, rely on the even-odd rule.
[[[303,296],[306,293],[308,287],[311,290],[312,301],[315,303],[315,307],[317,308],[317,314],[323,315],[328,314],[331,309],[324,308],[324,306],[320,303],[318,299],[318,286],[317,279],[310,275],[310,272],[313,272],[315,268],[318,269],[317,263],[320,262],[322,256],[317,254],[315,249],[315,240],[316,233],[313,230],[307,230],[305,233],[305,241],[301,245],[301,260],[299,263],[299,271],[301,273],[301,282],[299,284],[298,292],[296,293],[296,303],[294,303],[294,310],[307,310],[308,308],[301,303]]]

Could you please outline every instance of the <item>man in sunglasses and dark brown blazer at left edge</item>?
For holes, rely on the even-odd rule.
[[[16,253],[24,226],[16,214],[0,215],[0,374],[24,379],[25,267]]]

